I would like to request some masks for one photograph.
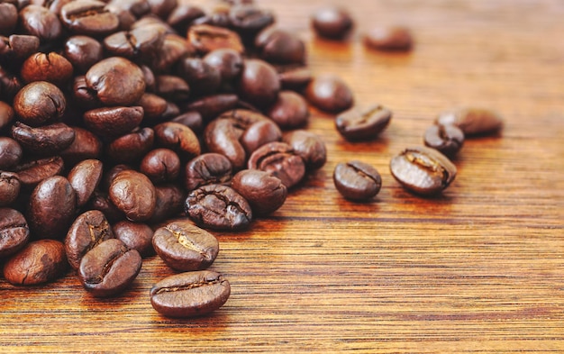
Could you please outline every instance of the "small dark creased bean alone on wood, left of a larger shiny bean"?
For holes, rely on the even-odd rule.
[[[345,198],[366,201],[378,195],[382,177],[371,165],[353,160],[337,164],[333,171],[333,183]]]

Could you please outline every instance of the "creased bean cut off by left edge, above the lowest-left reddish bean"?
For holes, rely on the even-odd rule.
[[[0,259],[21,250],[29,239],[30,229],[23,214],[15,209],[0,208]]]

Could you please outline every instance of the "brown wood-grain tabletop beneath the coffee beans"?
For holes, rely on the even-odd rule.
[[[305,39],[314,73],[391,108],[387,131],[350,143],[313,111],[327,164],[249,231],[215,232],[212,268],[232,284],[216,313],[156,313],[150,286],[173,273],[156,257],[106,300],[73,273],[32,288],[0,279],[0,351],[564,352],[564,2],[349,0],[345,43],[310,32],[322,1],[258,4]],[[359,35],[378,23],[407,24],[414,50],[366,50]],[[457,105],[495,109],[505,129],[466,142],[441,197],[410,195],[389,159]],[[348,159],[380,171],[372,203],[336,192],[332,170]]]

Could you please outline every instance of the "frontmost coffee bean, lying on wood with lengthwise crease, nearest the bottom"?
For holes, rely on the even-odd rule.
[[[194,317],[212,313],[227,302],[231,286],[211,270],[166,277],[150,289],[150,304],[167,317]]]

